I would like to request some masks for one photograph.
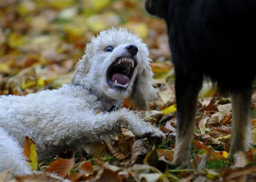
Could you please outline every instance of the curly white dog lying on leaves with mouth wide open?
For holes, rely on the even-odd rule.
[[[146,109],[154,98],[148,48],[125,29],[100,32],[79,60],[72,84],[27,96],[0,96],[0,171],[31,172],[22,154],[34,138],[39,157],[56,155],[69,144],[79,148],[102,140],[124,124],[136,136],[165,139],[136,112],[121,109],[126,97]]]

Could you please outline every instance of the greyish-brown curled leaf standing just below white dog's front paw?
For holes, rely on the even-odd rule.
[[[142,164],[143,159],[148,153],[148,140],[146,138],[136,140],[132,145],[131,164]]]

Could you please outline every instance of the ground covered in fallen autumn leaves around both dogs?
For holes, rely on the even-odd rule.
[[[24,155],[34,176],[16,181],[58,181],[55,172],[71,181],[255,181],[256,149],[238,153],[230,162],[232,110],[210,83],[199,95],[190,166],[170,169],[176,136],[174,72],[166,26],[148,16],[141,0],[4,0],[0,1],[0,94],[26,95],[70,83],[74,65],[93,35],[110,26],[138,34],[150,48],[158,99],[139,114],[166,133],[152,144],[136,139],[124,126],[111,142],[85,144],[82,151],[62,151],[37,161],[34,142],[26,138]],[[228,69],[228,68],[227,68]],[[256,131],[256,94],[252,98],[252,136]],[[125,102],[129,107],[132,103]],[[0,173],[5,181],[10,171]],[[15,180],[14,180],[15,181]]]

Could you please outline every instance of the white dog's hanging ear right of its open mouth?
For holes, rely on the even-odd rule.
[[[148,110],[148,102],[154,100],[156,93],[152,86],[152,70],[147,64],[146,68],[136,78],[131,99],[134,101],[134,110]]]

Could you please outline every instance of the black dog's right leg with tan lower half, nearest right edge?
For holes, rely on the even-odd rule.
[[[238,152],[246,152],[250,147],[250,102],[252,89],[231,91],[232,134],[230,157]]]

